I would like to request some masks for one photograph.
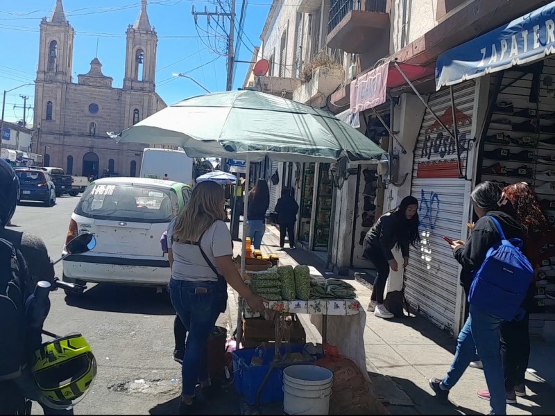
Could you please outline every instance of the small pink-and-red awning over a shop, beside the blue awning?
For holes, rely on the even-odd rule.
[[[433,67],[420,67],[418,65],[396,62],[410,81],[434,73]],[[386,91],[404,85],[407,81],[399,72],[393,62],[386,62],[370,72],[364,73],[356,80],[351,81],[350,112],[361,112],[377,107],[386,102]]]

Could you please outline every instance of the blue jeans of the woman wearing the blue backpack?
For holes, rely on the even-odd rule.
[[[476,352],[484,365],[484,376],[490,392],[490,408],[493,415],[506,415],[505,376],[501,365],[499,337],[503,320],[484,313],[470,304],[470,313],[456,344],[451,367],[443,379],[443,385],[451,389],[464,374]]]

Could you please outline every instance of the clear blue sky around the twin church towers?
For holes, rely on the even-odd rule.
[[[228,0],[221,1],[225,2]],[[0,39],[2,56],[0,61],[0,94],[25,83],[32,83],[38,60],[39,25],[44,16],[50,17],[56,0],[1,1]],[[191,15],[191,6],[204,11],[205,6],[214,11],[216,0],[149,0],[148,17],[158,34],[156,91],[166,103],[171,104],[182,98],[203,94],[203,90],[186,78],[174,78],[172,73],[184,72],[195,78],[212,92],[225,90],[226,67],[224,56],[210,49],[225,48],[221,40],[207,37],[205,17],[198,17],[200,39]],[[241,44],[238,60],[250,61],[253,44],[259,46],[259,35],[271,6],[271,0],[250,0],[247,2],[244,24],[244,44]],[[87,73],[90,62],[99,45],[99,60],[103,73],[114,78],[114,87],[123,84],[125,67],[126,28],[134,24],[141,9],[140,0],[63,0],[67,19],[75,29],[74,81],[79,73]],[[221,10],[221,8],[220,8]],[[241,11],[241,1],[237,1],[237,21]],[[212,22],[212,26],[215,26]],[[229,28],[229,20],[225,22]],[[213,33],[213,31],[212,31]],[[220,31],[221,33],[221,31]],[[210,44],[207,42],[210,40]],[[207,47],[208,46],[208,47]],[[214,61],[214,62],[211,62]],[[237,64],[234,88],[241,87],[248,64]],[[23,99],[33,106],[34,87],[22,87],[8,92],[6,96],[6,121],[23,118]],[[1,101],[1,95],[0,95]],[[32,121],[33,112],[26,116]]]

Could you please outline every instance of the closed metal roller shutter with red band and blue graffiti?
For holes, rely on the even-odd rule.
[[[475,83],[454,87],[457,131],[461,159],[466,164],[466,146],[471,139]],[[432,95],[429,106],[447,128],[452,129],[449,90]],[[463,167],[464,171],[464,167]],[[470,182],[459,179],[455,141],[426,111],[416,143],[411,194],[418,199],[422,241],[411,247],[405,277],[405,295],[411,309],[441,329],[453,333],[456,320],[456,293],[459,263],[443,236],[460,239],[465,198]]]

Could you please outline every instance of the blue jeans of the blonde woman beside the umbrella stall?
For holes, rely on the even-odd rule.
[[[182,395],[192,397],[197,381],[210,379],[207,342],[218,316],[227,306],[227,284],[225,281],[170,279],[169,295],[173,308],[189,331],[182,365]]]

